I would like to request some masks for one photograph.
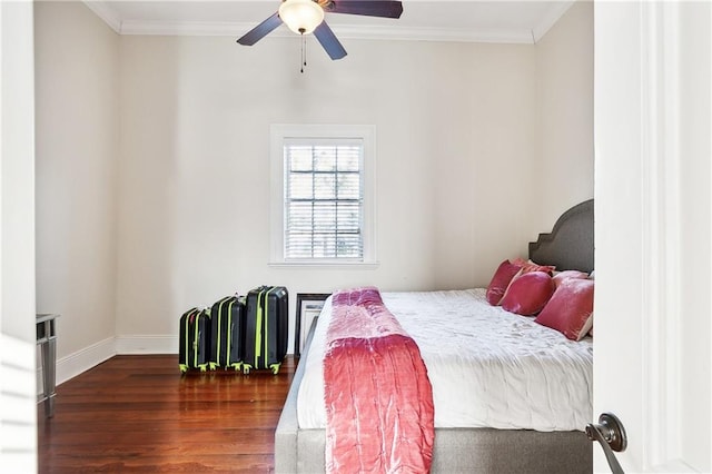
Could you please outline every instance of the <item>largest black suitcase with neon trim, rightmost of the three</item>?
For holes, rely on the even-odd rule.
[[[289,294],[284,286],[260,286],[247,294],[243,372],[279,372],[287,354]]]

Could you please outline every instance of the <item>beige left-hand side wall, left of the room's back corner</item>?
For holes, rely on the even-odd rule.
[[[62,315],[58,357],[110,353],[119,37],[79,2],[37,2],[34,26],[37,310]]]

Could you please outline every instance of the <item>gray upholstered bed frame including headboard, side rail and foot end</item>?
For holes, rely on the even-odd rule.
[[[530,244],[530,258],[558,269],[593,270],[593,199],[564,213],[550,234]],[[301,357],[306,357],[316,319]],[[325,429],[301,429],[297,394],[304,364],[297,366],[275,433],[277,473],[325,471]],[[592,414],[593,416],[593,414]],[[593,418],[592,418],[593,419]],[[583,432],[436,428],[433,473],[591,473],[593,448]]]

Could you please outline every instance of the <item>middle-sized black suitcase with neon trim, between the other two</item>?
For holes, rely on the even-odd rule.
[[[245,344],[245,297],[227,296],[210,309],[210,369],[243,368]]]

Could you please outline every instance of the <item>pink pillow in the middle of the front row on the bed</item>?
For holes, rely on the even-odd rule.
[[[502,298],[502,307],[511,313],[532,316],[541,312],[555,290],[554,282],[544,271],[530,271],[516,277]]]

